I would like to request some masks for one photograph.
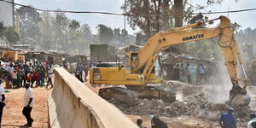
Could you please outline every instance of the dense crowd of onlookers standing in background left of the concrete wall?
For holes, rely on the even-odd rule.
[[[0,61],[1,64],[1,78],[5,82],[5,88],[19,88],[25,84],[30,84],[31,87],[45,86],[45,79],[53,87],[53,69],[48,61],[38,62],[27,61]]]

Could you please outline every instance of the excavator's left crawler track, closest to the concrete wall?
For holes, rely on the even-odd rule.
[[[135,105],[138,96],[135,91],[127,90],[121,87],[107,87],[99,90],[99,96],[104,99],[115,99],[119,102],[124,102],[128,106]]]

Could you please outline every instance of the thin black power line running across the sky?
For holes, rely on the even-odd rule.
[[[73,13],[73,14],[102,14],[102,15],[127,15],[127,16],[133,16],[131,14],[119,14],[119,13],[111,13],[111,12],[102,12],[102,11],[76,11],[76,10],[61,10],[61,9],[37,9],[37,8],[33,8],[31,6],[28,5],[24,5],[24,4],[20,4],[20,3],[14,3],[14,2],[9,2],[9,1],[5,1],[5,0],[0,0],[1,2],[4,3],[11,3],[14,5],[18,5],[21,7],[26,7],[29,9],[34,9],[34,10],[38,10],[41,12],[53,12],[53,13]],[[227,14],[227,13],[238,13],[238,12],[247,12],[247,11],[253,11],[256,10],[256,8],[254,9],[238,9],[238,10],[231,10],[231,11],[215,11],[215,12],[201,12],[201,13],[192,13],[190,15],[214,15],[214,14]],[[140,16],[154,16],[154,14],[146,14],[146,15],[140,15]]]

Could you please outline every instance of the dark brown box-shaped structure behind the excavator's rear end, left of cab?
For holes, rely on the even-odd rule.
[[[115,60],[115,47],[109,44],[90,44],[90,61]]]

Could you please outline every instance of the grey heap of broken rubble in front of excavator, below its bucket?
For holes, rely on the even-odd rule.
[[[183,84],[178,81],[166,81],[166,88],[172,89],[182,94],[182,100],[176,102],[163,102],[158,99],[139,99],[137,105],[127,106],[117,101],[112,102],[116,107],[127,114],[149,115],[150,112],[164,117],[177,117],[181,115],[194,116],[199,119],[208,119],[217,121],[221,113],[225,113],[230,105],[225,103],[208,102],[203,89],[200,85]],[[235,116],[241,127],[244,127],[249,120],[253,109],[247,106],[231,106],[235,109]],[[254,112],[255,113],[255,112]]]

